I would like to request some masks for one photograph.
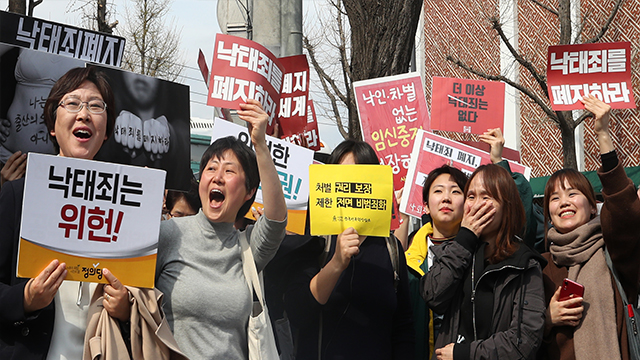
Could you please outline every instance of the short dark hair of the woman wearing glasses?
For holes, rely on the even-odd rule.
[[[107,104],[107,137],[113,134],[113,127],[116,123],[116,107],[111,90],[111,85],[107,80],[107,76],[104,72],[100,71],[97,67],[87,65],[87,67],[73,68],[62,75],[58,81],[53,85],[47,101],[44,104],[44,123],[47,126],[49,134],[55,131],[56,127],[56,110],[62,101],[62,98],[77,89],[83,82],[89,81],[93,83],[102,95],[102,100]],[[54,136],[51,137],[53,146],[56,152],[60,151],[60,145]]]

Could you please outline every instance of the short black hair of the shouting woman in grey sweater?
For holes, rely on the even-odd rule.
[[[244,171],[244,186],[247,193],[257,190],[260,185],[260,173],[258,172],[256,154],[245,143],[233,136],[220,138],[209,145],[204,154],[202,154],[202,159],[200,159],[200,174],[202,174],[211,159],[222,159],[224,153],[228,150],[233,152],[236,158],[238,158],[240,166],[242,166],[242,170]],[[240,207],[240,210],[236,214],[236,220],[241,219],[249,211],[255,199],[256,192],[253,193],[251,199],[245,201],[242,207]]]

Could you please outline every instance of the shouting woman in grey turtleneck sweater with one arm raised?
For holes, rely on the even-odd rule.
[[[285,235],[287,207],[265,138],[269,117],[256,100],[241,104],[238,115],[248,124],[255,153],[234,137],[214,141],[200,161],[202,209],[160,225],[156,286],[165,294],[178,345],[192,359],[248,358],[253,295],[241,237],[260,272]],[[264,216],[241,233],[234,222],[249,211],[259,185]]]

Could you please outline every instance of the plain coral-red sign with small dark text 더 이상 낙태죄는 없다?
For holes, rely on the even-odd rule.
[[[503,82],[434,76],[431,93],[431,130],[504,132]]]

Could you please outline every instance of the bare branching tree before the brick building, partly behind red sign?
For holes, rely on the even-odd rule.
[[[580,39],[583,37],[582,26],[577,28],[577,33],[572,34],[573,24],[571,23],[571,0],[559,0],[558,8],[554,9],[550,5],[544,4],[542,0],[529,0],[534,3],[536,6],[540,6],[545,11],[549,13],[550,16],[555,16],[558,18],[558,23],[560,26],[560,38],[557,44],[549,44],[549,45],[568,45],[568,44],[577,44],[580,43]],[[593,37],[586,39],[582,43],[595,43],[602,39],[607,30],[609,29],[611,23],[613,22],[616,14],[618,13],[620,7],[624,0],[616,0],[614,6],[609,13],[609,16],[605,23],[600,27],[597,34]],[[560,133],[562,135],[562,152],[563,152],[563,161],[565,168],[577,169],[578,163],[576,160],[576,147],[575,147],[575,129],[588,117],[591,116],[591,113],[587,111],[583,111],[580,116],[574,119],[572,111],[553,111],[551,109],[551,105],[549,102],[549,92],[547,88],[547,79],[546,79],[546,68],[538,69],[533,65],[533,62],[530,59],[527,59],[526,56],[521,54],[514,46],[511,44],[509,39],[507,38],[504,29],[503,23],[500,22],[500,19],[497,16],[490,16],[488,21],[491,24],[491,27],[497,35],[500,37],[500,40],[505,44],[509,53],[515,59],[515,62],[524,68],[526,72],[528,72],[535,83],[538,85],[537,88],[528,88],[520,82],[513,81],[506,76],[500,74],[490,74],[482,69],[474,68],[467,63],[463,62],[455,55],[448,55],[446,58],[448,61],[456,64],[457,66],[465,69],[466,71],[475,74],[479,77],[482,77],[487,80],[498,80],[507,83],[510,86],[518,89],[521,93],[529,97],[536,105],[542,109],[542,111],[547,115],[547,117],[553,121],[556,126],[560,129]],[[585,19],[582,19],[582,23],[585,22]],[[545,62],[546,63],[546,62]]]

